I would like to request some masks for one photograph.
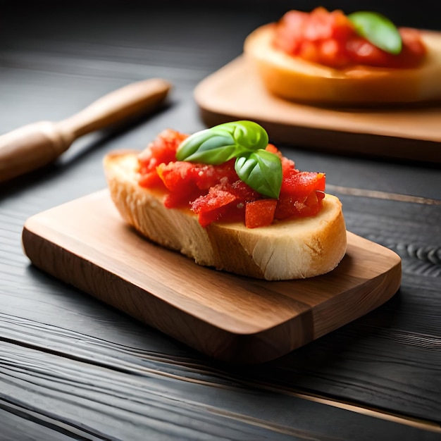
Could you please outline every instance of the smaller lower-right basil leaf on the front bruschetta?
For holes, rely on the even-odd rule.
[[[278,199],[282,186],[282,162],[264,149],[239,156],[235,170],[240,180],[265,196]]]

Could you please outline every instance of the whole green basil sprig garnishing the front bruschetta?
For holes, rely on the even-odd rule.
[[[221,164],[236,158],[240,180],[256,192],[277,199],[282,186],[280,158],[266,151],[268,133],[253,121],[215,125],[185,139],[176,151],[178,161]]]

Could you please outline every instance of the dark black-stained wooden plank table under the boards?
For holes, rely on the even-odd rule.
[[[281,146],[327,173],[347,229],[397,252],[403,275],[377,310],[267,364],[209,359],[23,254],[27,218],[106,186],[106,152],[141,149],[167,127],[204,128],[194,87],[240,55],[251,30],[293,7],[225,2],[196,13],[191,2],[161,3],[2,2],[0,133],[61,120],[137,80],[163,77],[174,88],[162,111],[87,135],[54,165],[0,187],[0,439],[440,439],[437,165]],[[439,25],[435,6],[426,15],[406,7],[403,24]]]

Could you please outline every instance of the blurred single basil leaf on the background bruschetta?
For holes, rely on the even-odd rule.
[[[402,51],[402,37],[397,27],[384,15],[359,11],[348,15],[358,35],[383,51],[398,55]]]

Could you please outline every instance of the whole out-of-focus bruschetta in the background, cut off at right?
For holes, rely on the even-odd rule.
[[[386,32],[370,35],[377,22]],[[247,36],[244,57],[268,92],[290,101],[385,106],[441,100],[440,34],[391,29],[390,20],[377,13],[288,11]],[[378,39],[388,36],[396,47],[382,49]]]

